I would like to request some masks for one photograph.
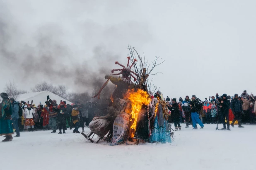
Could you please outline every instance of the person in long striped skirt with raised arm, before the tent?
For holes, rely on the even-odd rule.
[[[56,100],[51,100],[49,96],[47,96],[47,101],[45,102],[46,105],[48,106],[49,110],[49,125],[53,132],[51,133],[56,133],[57,130],[57,102]]]

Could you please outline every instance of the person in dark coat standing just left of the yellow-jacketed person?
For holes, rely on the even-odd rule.
[[[54,106],[56,107],[56,106]],[[65,134],[65,127],[66,127],[66,117],[67,117],[67,106],[65,105],[65,103],[62,101],[60,102],[60,105],[58,105],[57,108],[57,113],[58,113],[58,117],[57,117],[57,122],[59,125],[59,129],[60,132],[58,134],[62,134],[61,129],[63,130],[63,134]]]

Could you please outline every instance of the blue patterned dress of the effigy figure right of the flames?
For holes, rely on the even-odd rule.
[[[162,105],[159,103],[157,116],[155,117],[154,128],[150,136],[151,142],[171,143],[171,134],[169,131],[168,121],[164,119]]]

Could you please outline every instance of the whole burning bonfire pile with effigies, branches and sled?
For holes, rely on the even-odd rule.
[[[94,134],[99,136],[97,143],[103,139],[111,142],[111,145],[138,144],[138,142],[171,142],[168,126],[169,110],[163,101],[160,91],[155,93],[157,87],[149,83],[148,77],[152,70],[159,64],[158,57],[152,62],[150,68],[147,62],[142,62],[134,48],[130,50],[127,66],[122,69],[113,69],[111,72],[121,71],[105,76],[107,81],[99,92],[93,96],[100,98],[102,89],[111,81],[116,89],[111,95],[111,103],[107,108],[107,115],[94,117],[89,124],[91,132],[82,133],[91,142]],[[137,54],[138,60],[134,54]],[[144,58],[144,61],[145,58]],[[131,65],[129,66],[131,62]],[[122,76],[121,76],[122,74]],[[153,87],[153,88],[152,88]],[[153,93],[155,95],[153,96]],[[92,136],[92,137],[91,137]]]

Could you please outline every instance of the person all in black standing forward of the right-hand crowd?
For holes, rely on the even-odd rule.
[[[227,100],[227,94],[222,95],[223,100],[219,103],[220,105],[220,114],[222,115],[223,128],[221,130],[230,130],[229,129],[229,106],[230,101]],[[227,127],[226,127],[227,120]]]

